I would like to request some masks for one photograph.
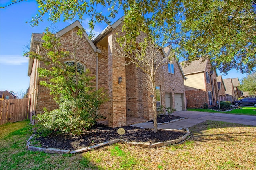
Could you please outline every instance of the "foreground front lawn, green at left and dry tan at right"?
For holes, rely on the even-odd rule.
[[[164,170],[256,169],[256,128],[205,121],[182,144],[157,149],[122,143],[82,154],[46,154],[26,150],[29,121],[0,125],[0,170]]]

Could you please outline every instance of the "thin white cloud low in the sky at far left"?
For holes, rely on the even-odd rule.
[[[0,63],[2,65],[22,65],[28,63],[28,58],[22,55],[1,55]]]

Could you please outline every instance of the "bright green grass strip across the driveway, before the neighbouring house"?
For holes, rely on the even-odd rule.
[[[219,112],[212,109],[187,109],[188,111],[200,111],[200,112],[215,112],[215,113],[229,113],[238,115],[254,115],[256,116],[256,107],[241,107],[241,109],[233,109],[228,112]]]

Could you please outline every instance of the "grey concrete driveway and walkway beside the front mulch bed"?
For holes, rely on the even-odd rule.
[[[181,117],[190,117],[190,118],[176,121],[173,123],[164,124],[164,125],[158,125],[158,128],[166,128],[166,129],[189,128],[198,123],[204,122],[206,120],[240,123],[244,125],[256,126],[256,116],[196,112],[196,111],[176,111],[175,113],[173,113],[173,115],[181,116]],[[134,126],[143,127],[143,128],[153,128],[153,123],[148,123],[148,122],[137,123],[137,124],[134,124]]]

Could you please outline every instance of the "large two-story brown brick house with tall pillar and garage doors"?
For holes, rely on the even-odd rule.
[[[58,32],[57,35],[68,36],[70,30],[81,27],[80,22],[76,21]],[[144,73],[132,64],[125,65],[126,59],[118,57],[113,47],[116,32],[120,31],[121,27],[122,18],[104,29],[92,41],[89,40],[86,32],[83,33],[87,40],[84,48],[90,54],[90,61],[84,67],[90,69],[91,74],[96,77],[96,89],[104,88],[108,91],[109,100],[100,107],[99,112],[106,117],[101,120],[101,123],[110,127],[127,125],[130,120],[146,121],[153,118],[150,93],[143,86]],[[40,53],[38,42],[41,38],[42,34],[32,34],[30,50]],[[162,55],[168,55],[168,53],[170,49],[162,50]],[[58,106],[49,94],[50,91],[39,85],[39,81],[44,79],[38,77],[37,68],[46,67],[46,65],[42,61],[30,58],[28,67],[31,115],[42,113],[44,107],[49,110],[56,109]],[[120,78],[122,82],[118,82]],[[156,89],[160,92],[157,104],[176,110],[186,110],[184,79],[180,63],[175,61],[163,65],[156,77]]]

